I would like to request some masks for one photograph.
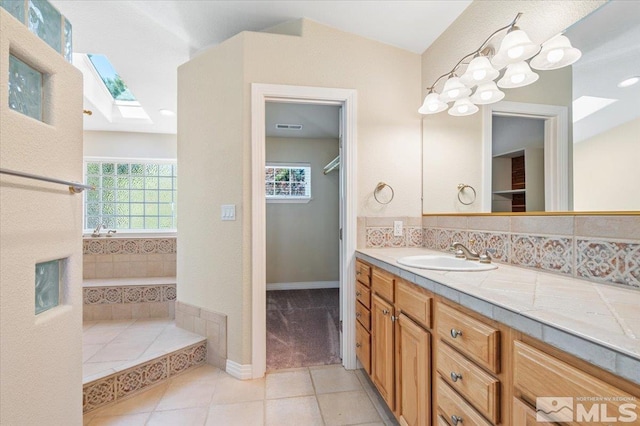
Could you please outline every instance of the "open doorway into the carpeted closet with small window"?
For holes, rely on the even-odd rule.
[[[340,115],[266,103],[267,371],[341,360]]]

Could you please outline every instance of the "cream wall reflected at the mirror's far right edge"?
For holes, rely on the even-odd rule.
[[[573,146],[576,211],[640,210],[640,119]]]

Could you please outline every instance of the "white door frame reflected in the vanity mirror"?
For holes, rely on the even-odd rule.
[[[568,211],[571,151],[569,111],[566,106],[501,101],[482,109],[482,210],[491,211],[492,117],[494,115],[544,120],[544,205],[545,211]],[[571,200],[572,202],[573,200]]]

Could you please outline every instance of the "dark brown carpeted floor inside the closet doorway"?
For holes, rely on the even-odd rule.
[[[268,371],[341,362],[338,291],[267,291]]]

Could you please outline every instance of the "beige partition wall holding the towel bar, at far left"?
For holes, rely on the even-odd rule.
[[[9,49],[48,74],[46,123],[7,108]],[[0,167],[82,181],[82,75],[0,9]],[[82,196],[0,178],[0,424],[82,424]],[[35,264],[67,258],[61,305],[35,315]]]

